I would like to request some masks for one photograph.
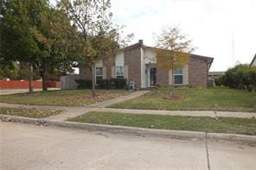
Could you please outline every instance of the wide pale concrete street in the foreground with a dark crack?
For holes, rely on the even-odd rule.
[[[256,147],[0,122],[0,169],[256,169]],[[207,156],[208,150],[208,156]],[[208,168],[209,167],[209,168]]]

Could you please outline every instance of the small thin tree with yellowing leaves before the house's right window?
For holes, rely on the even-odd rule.
[[[171,97],[175,97],[174,72],[188,64],[193,50],[191,40],[187,40],[186,35],[182,35],[180,28],[163,28],[162,33],[157,35],[157,48],[154,49],[157,54],[157,67],[172,70]]]

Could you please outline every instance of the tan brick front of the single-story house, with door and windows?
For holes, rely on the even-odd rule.
[[[208,86],[208,71],[213,58],[191,54],[189,64],[174,71],[175,85]],[[157,68],[156,53],[143,41],[120,50],[110,61],[99,60],[96,64],[97,79],[125,78],[134,82],[137,89],[155,85],[172,85],[172,70]],[[80,67],[80,79],[91,79],[89,68]]]

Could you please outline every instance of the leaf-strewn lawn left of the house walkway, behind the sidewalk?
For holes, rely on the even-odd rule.
[[[38,91],[32,97],[28,93],[0,96],[0,102],[10,104],[84,106],[129,94],[129,91],[125,90],[97,90],[96,92],[97,98],[92,97],[91,90]]]

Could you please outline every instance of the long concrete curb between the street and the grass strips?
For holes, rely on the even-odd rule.
[[[219,133],[205,133],[197,131],[183,131],[183,130],[165,130],[165,129],[145,129],[134,128],[117,125],[104,125],[93,123],[74,123],[64,121],[54,121],[46,119],[36,119],[22,116],[7,116],[0,115],[0,119],[7,122],[20,122],[20,123],[35,123],[37,125],[55,125],[64,128],[84,129],[86,131],[100,131],[112,134],[125,134],[125,135],[138,135],[150,136],[172,139],[196,139],[205,140],[206,135],[209,140],[221,140],[228,142],[242,142],[246,144],[256,144],[255,135],[235,135],[235,134],[219,134]]]

